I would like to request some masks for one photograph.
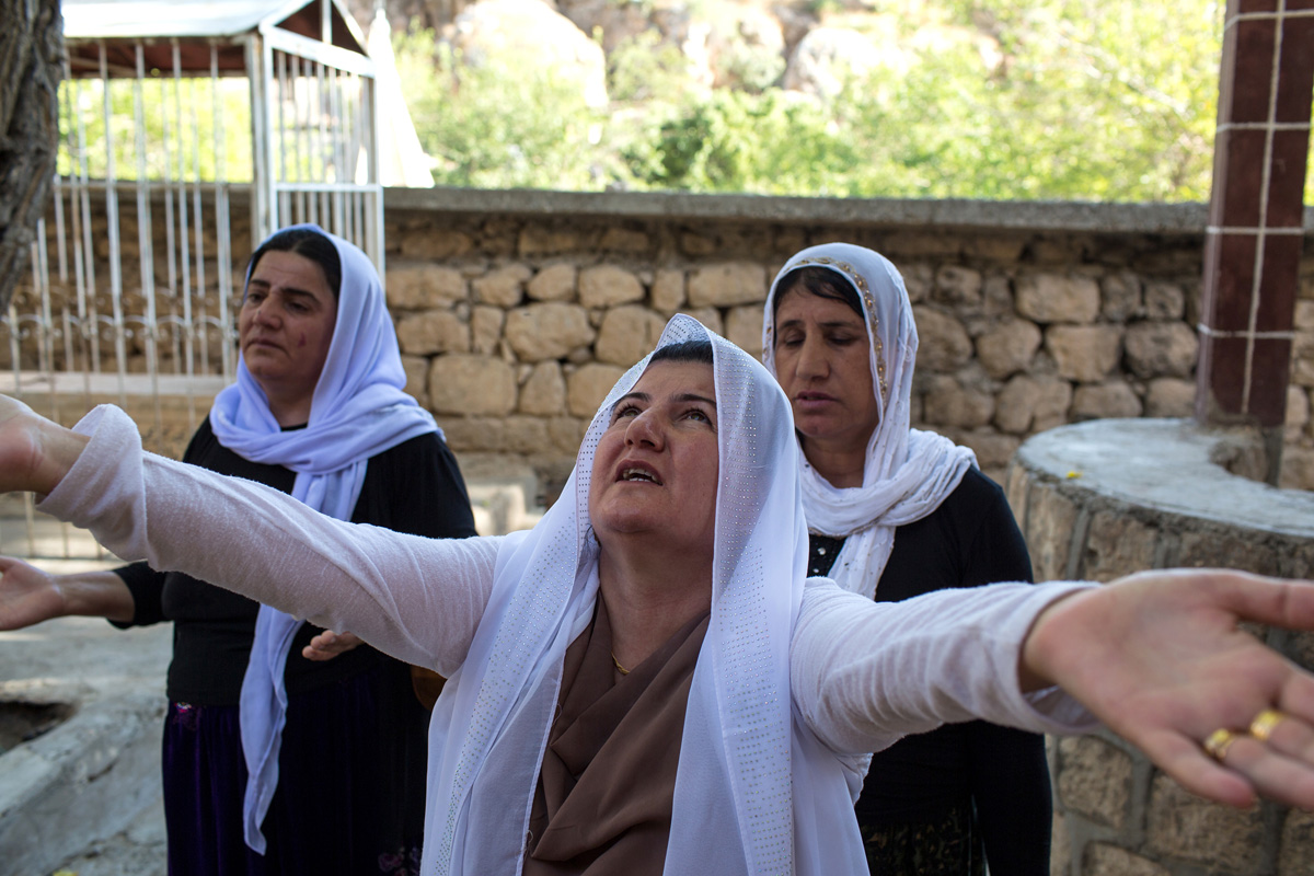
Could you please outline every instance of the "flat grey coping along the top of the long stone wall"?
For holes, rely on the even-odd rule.
[[[978,201],[970,198],[837,198],[687,192],[553,192],[545,189],[389,188],[388,210],[511,215],[569,214],[664,219],[745,219],[803,225],[936,227],[984,231],[1200,234],[1206,204]],[[1305,209],[1314,235],[1314,206]]]

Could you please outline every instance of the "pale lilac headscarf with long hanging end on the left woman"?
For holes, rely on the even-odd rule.
[[[219,444],[238,456],[296,471],[294,499],[350,520],[369,457],[439,428],[428,411],[403,391],[406,372],[373,263],[356,246],[319,226],[284,229],[292,230],[323,235],[342,261],[338,318],[315,383],[310,420],[304,429],[284,432],[269,411],[264,390],[239,359],[237,382],[226,386],[210,408],[210,427]],[[248,772],[243,826],[247,844],[261,854],[265,839],[260,823],[279,781],[279,749],[286,718],[283,670],[300,625],[290,615],[261,605],[242,682],[239,717]]]

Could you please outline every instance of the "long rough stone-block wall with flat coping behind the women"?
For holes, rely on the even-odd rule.
[[[127,198],[120,209],[135,313],[135,218]],[[251,248],[240,193],[233,211],[239,282]],[[1054,426],[1190,415],[1205,221],[1201,205],[392,189],[388,299],[409,389],[457,453],[520,457],[551,495],[597,403],[671,314],[758,352],[761,302],[792,252],[869,246],[900,268],[913,301],[915,424],[970,445],[999,478],[1025,437]],[[104,235],[95,239],[102,257]],[[1314,489],[1314,238],[1305,252],[1282,478]],[[217,274],[212,260],[212,286]],[[37,309],[32,290],[17,302]],[[26,335],[22,368],[34,368]],[[212,361],[218,343],[212,331]],[[112,347],[106,336],[102,351]],[[168,369],[168,331],[159,349]],[[129,370],[142,370],[141,332],[129,353]]]

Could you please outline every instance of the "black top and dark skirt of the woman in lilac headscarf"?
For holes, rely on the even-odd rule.
[[[284,493],[296,481],[289,469],[222,447],[209,420],[183,458]],[[476,535],[456,460],[434,433],[369,460],[352,521],[428,537]],[[279,787],[260,856],[242,835],[246,762],[238,725],[259,604],[146,563],[117,573],[135,604],[124,626],[173,621],[163,758],[171,873],[418,872],[428,711],[407,665],[365,645],[327,662],[307,661],[301,649],[321,630],[302,624],[284,675]]]

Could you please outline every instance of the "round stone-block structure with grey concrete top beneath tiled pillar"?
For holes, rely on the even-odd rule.
[[[1221,465],[1259,445],[1257,435],[1154,419],[1083,423],[1028,440],[1007,489],[1037,580],[1108,582],[1171,566],[1314,575],[1314,494],[1275,490]],[[1251,632],[1314,668],[1314,636]],[[1055,876],[1310,872],[1310,813],[1206,802],[1108,730],[1051,743]]]

